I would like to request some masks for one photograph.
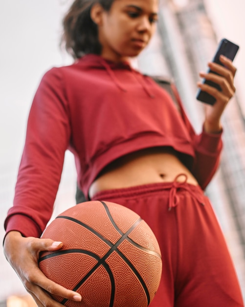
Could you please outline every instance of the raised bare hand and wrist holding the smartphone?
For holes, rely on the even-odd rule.
[[[207,133],[219,133],[222,130],[221,116],[227,103],[234,96],[236,91],[234,86],[236,67],[233,66],[230,59],[223,55],[220,56],[220,61],[223,63],[224,67],[217,63],[208,63],[209,68],[219,75],[213,73],[200,73],[200,77],[204,77],[207,80],[219,84],[222,91],[210,85],[198,82],[198,87],[200,87],[201,90],[216,98],[214,105],[206,105],[203,128]]]

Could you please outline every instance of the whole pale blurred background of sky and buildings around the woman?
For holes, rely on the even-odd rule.
[[[26,120],[36,88],[46,70],[72,61],[59,49],[61,19],[70,2],[0,3],[1,225],[12,205]],[[245,28],[244,9],[244,0],[161,0],[156,35],[133,63],[143,73],[173,79],[193,126],[200,132],[203,104],[195,99],[199,72],[207,70],[206,64],[221,38],[241,47],[234,61],[238,67],[236,96],[223,115],[222,162],[206,193],[223,229],[245,297],[245,36],[241,33]],[[75,189],[74,161],[67,152],[54,216],[75,205]],[[3,236],[1,226],[1,241]],[[0,307],[33,306],[24,295],[22,283],[1,250]]]

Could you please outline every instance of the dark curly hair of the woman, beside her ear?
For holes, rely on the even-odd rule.
[[[97,25],[91,20],[90,10],[99,3],[104,10],[110,11],[114,0],[75,0],[63,19],[62,41],[73,58],[88,53],[101,53]]]

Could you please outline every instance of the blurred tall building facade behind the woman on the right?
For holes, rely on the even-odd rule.
[[[203,0],[162,0],[156,37],[138,60],[143,72],[174,80],[197,132],[202,129],[204,105],[195,98],[196,83],[217,45]],[[206,194],[223,229],[245,297],[245,121],[237,96],[223,114],[223,130],[221,165]]]

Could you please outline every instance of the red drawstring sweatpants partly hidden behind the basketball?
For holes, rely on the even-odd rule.
[[[153,183],[102,191],[92,200],[132,209],[155,233],[163,267],[150,307],[244,306],[223,233],[199,186]]]

